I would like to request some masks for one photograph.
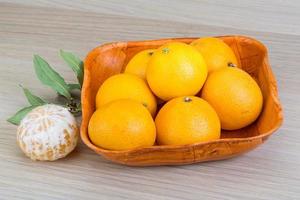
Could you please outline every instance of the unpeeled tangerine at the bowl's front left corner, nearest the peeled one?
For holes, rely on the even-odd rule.
[[[156,137],[149,111],[140,102],[129,99],[116,100],[96,110],[88,132],[95,145],[110,150],[152,146]]]

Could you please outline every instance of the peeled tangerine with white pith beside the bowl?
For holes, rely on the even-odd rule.
[[[66,108],[47,104],[23,118],[17,130],[17,142],[32,160],[53,161],[76,147],[78,132],[76,120]]]

